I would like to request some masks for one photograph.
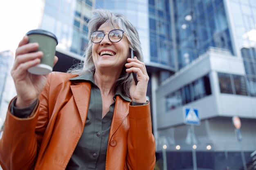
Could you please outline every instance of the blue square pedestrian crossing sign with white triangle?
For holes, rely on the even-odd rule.
[[[184,107],[184,123],[188,125],[200,125],[200,117],[198,108]]]

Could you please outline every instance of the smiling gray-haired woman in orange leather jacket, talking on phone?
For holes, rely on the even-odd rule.
[[[28,73],[43,53],[31,53],[38,44],[27,36],[19,43],[11,71],[17,96],[0,140],[4,170],[154,169],[138,33],[124,15],[103,9],[94,11],[88,29],[84,65],[68,73]],[[130,58],[130,49],[137,57]]]

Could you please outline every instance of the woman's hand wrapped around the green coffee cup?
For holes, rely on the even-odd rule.
[[[15,106],[25,108],[33,104],[43,91],[47,82],[48,75],[34,75],[27,70],[40,63],[40,58],[43,57],[42,51],[38,49],[38,43],[28,43],[27,35],[20,41],[15,53],[15,61],[11,69],[11,75],[16,87],[17,100]],[[58,58],[54,57],[54,64]]]

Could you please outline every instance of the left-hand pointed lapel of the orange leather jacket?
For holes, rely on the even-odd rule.
[[[90,102],[91,84],[89,82],[83,82],[80,84],[71,85],[70,88],[74,95],[74,100],[79,110],[83,126],[85,126],[85,120]]]

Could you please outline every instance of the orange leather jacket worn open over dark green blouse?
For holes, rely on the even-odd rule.
[[[75,76],[52,72],[31,117],[15,117],[8,109],[0,140],[4,170],[65,170],[82,135],[90,99],[90,83],[68,80]],[[117,96],[106,170],[153,170],[154,166],[149,104],[131,106]]]

